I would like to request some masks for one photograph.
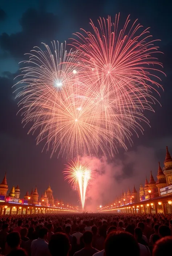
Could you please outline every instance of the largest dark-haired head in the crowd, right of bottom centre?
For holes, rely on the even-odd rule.
[[[111,256],[114,251],[116,255],[120,256],[140,256],[140,248],[137,241],[134,236],[127,232],[118,231],[108,234],[105,240],[106,256]]]

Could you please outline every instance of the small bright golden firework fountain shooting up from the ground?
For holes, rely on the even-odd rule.
[[[64,174],[66,174],[65,179],[69,180],[75,190],[79,188],[82,209],[84,209],[86,190],[89,180],[93,178],[93,170],[90,170],[88,163],[81,162],[79,158],[75,158],[69,165],[66,165]]]

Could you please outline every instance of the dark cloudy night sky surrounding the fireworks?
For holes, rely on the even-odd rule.
[[[119,149],[119,154],[104,163],[102,181],[94,183],[100,203],[113,200],[122,188],[133,185],[139,190],[144,184],[145,175],[150,178],[150,170],[156,180],[158,161],[163,167],[165,146],[172,154],[172,3],[156,0],[5,0],[0,3],[0,182],[5,171],[9,189],[19,184],[21,196],[37,185],[38,192],[47,189],[48,183],[54,197],[76,204],[78,194],[64,181],[62,171],[67,163],[65,157],[58,158],[50,152],[42,152],[42,145],[36,146],[36,137],[27,135],[28,127],[23,128],[12,86],[19,73],[19,62],[24,60],[33,46],[41,42],[50,44],[53,40],[67,41],[72,33],[80,28],[89,29],[89,19],[115,17],[120,12],[123,22],[131,15],[131,20],[139,20],[144,28],[150,27],[153,39],[160,39],[159,60],[163,62],[163,90],[159,90],[161,106],[156,104],[155,113],[146,113],[151,128],[143,123],[144,135],[133,136],[134,145],[128,151]],[[101,160],[101,163],[103,160]],[[110,171],[109,171],[110,168]],[[107,174],[107,175],[106,175]],[[110,175],[109,175],[110,174]],[[108,178],[111,183],[108,183]],[[112,186],[112,189],[110,189]],[[93,190],[93,187],[90,188]],[[126,188],[127,189],[127,188]],[[9,192],[9,191],[8,191]],[[89,193],[91,194],[91,193]],[[103,197],[102,197],[103,194]],[[106,195],[105,195],[106,194]],[[90,199],[91,200],[91,199]]]

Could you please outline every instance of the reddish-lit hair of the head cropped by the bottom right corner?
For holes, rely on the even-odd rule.
[[[172,248],[172,237],[166,236],[159,239],[153,248],[153,256],[169,255]]]

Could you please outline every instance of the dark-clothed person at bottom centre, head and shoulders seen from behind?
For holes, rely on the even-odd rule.
[[[74,256],[93,256],[94,253],[98,252],[97,249],[93,248],[91,243],[93,240],[93,234],[91,231],[85,231],[83,233],[83,243],[85,247],[78,252],[75,252]]]

